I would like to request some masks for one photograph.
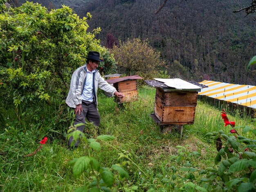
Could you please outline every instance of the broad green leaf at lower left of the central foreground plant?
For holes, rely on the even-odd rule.
[[[74,176],[80,176],[90,166],[90,158],[88,156],[79,157],[73,166]]]

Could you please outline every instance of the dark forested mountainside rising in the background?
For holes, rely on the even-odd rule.
[[[256,84],[256,67],[246,70],[256,55],[256,21],[243,11],[233,13],[251,0],[168,0],[158,14],[164,0],[85,1],[79,1],[76,13],[92,14],[89,29],[101,27],[97,38],[102,45],[108,34],[121,41],[147,39],[160,51],[169,74],[177,70],[176,60],[187,69],[185,80]]]

